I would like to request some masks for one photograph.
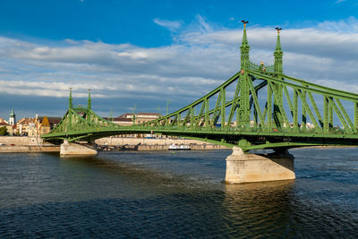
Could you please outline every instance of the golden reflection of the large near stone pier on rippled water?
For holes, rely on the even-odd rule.
[[[287,236],[294,181],[226,185],[226,227],[239,237]],[[240,229],[238,229],[240,228]]]

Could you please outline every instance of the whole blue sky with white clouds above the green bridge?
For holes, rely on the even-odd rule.
[[[286,74],[358,93],[358,0],[0,2],[0,117],[166,112],[238,71],[241,20],[251,61],[272,64],[281,27]]]

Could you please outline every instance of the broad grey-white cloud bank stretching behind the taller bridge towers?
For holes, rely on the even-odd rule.
[[[358,92],[357,28],[357,19],[349,18],[281,31],[286,74]],[[251,60],[272,64],[276,31],[249,26],[247,34]],[[72,39],[54,47],[0,37],[0,92],[64,98],[69,87],[77,97],[90,88],[95,98],[145,100],[142,104],[170,98],[184,106],[238,71],[241,29],[213,27],[198,15],[174,38],[164,47]]]

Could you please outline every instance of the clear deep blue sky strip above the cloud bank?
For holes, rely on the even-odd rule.
[[[320,21],[339,21],[357,12],[354,0],[302,0],[295,4],[267,0],[5,0],[1,2],[0,33],[11,38],[71,38],[159,47],[171,44],[172,34],[155,19],[179,21],[182,28],[192,24],[197,15],[229,29],[237,28],[241,19],[260,26],[301,28]]]

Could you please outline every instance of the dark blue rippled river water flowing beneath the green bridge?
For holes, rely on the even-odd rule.
[[[294,181],[223,184],[231,150],[0,154],[0,238],[357,238],[358,148],[293,149]]]

